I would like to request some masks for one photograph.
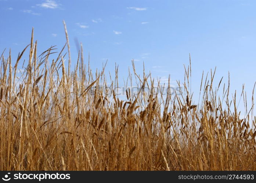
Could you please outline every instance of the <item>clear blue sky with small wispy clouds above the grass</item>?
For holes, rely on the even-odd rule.
[[[74,39],[90,53],[91,67],[107,70],[119,65],[127,77],[131,59],[136,71],[166,81],[184,78],[192,61],[192,90],[198,93],[202,71],[216,70],[231,78],[231,92],[252,93],[256,61],[256,1],[254,0],[0,0],[0,51],[12,57],[29,44],[32,27],[38,52],[65,44],[65,20],[73,65],[77,58]],[[57,57],[57,55],[56,55]],[[216,85],[217,85],[216,84]]]

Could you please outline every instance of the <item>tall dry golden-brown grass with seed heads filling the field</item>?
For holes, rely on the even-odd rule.
[[[1,54],[0,170],[256,170],[253,107],[239,117],[236,98],[247,107],[245,91],[231,96],[229,83],[213,86],[215,70],[202,76],[195,103],[191,66],[178,82],[184,92],[164,96],[133,64],[129,80],[134,75],[140,90],[127,87],[124,100],[115,93],[118,68],[110,87],[101,87],[105,67],[92,73],[82,45],[73,71],[64,48],[48,59],[54,49],[38,56],[32,33],[16,62]]]

